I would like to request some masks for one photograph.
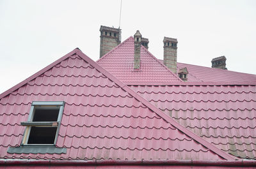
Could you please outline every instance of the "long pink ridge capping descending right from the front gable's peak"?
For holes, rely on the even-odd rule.
[[[130,37],[131,38],[131,37]],[[79,55],[79,57],[83,58],[84,61],[88,62],[89,64],[91,64],[95,69],[97,69],[98,71],[100,71],[103,75],[105,75],[106,77],[108,77],[110,80],[112,80],[115,84],[119,85],[122,89],[124,89],[126,92],[128,92],[129,94],[131,94],[131,96],[133,96],[135,99],[138,99],[138,101],[140,101],[141,103],[143,103],[143,105],[147,106],[150,110],[152,110],[153,112],[155,112],[157,115],[159,115],[160,117],[162,117],[164,119],[164,121],[168,122],[169,124],[171,124],[172,126],[174,126],[175,128],[179,129],[182,133],[184,133],[185,135],[188,135],[190,138],[193,138],[193,140],[195,140],[196,142],[200,143],[201,145],[204,145],[204,147],[207,147],[207,149],[211,150],[212,152],[214,152],[215,154],[218,154],[218,156],[221,156],[224,159],[228,159],[228,160],[234,160],[236,159],[234,156],[231,156],[230,154],[227,154],[224,151],[221,151],[221,149],[218,149],[217,147],[215,147],[214,145],[212,145],[211,143],[207,142],[206,140],[204,140],[204,138],[201,138],[200,136],[196,135],[195,133],[193,133],[192,131],[189,131],[189,129],[185,128],[184,126],[182,126],[181,124],[179,124],[178,122],[176,122],[175,120],[172,119],[172,117],[164,114],[164,112],[162,112],[159,108],[155,107],[154,105],[152,105],[152,103],[150,103],[149,101],[147,101],[147,99],[143,98],[142,96],[140,96],[140,94],[136,93],[135,91],[133,91],[130,87],[128,87],[127,85],[125,85],[123,82],[121,82],[120,80],[118,80],[118,78],[114,77],[113,75],[111,75],[111,73],[109,73],[108,71],[106,71],[104,68],[102,68],[99,64],[97,64],[97,62],[93,61],[92,59],[90,59],[90,57],[88,57],[87,55],[83,54],[83,52],[78,51],[77,55]]]

